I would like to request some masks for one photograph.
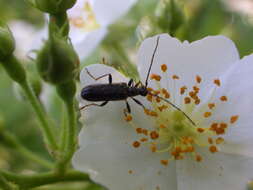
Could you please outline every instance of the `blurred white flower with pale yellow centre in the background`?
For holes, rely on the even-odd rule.
[[[107,34],[107,27],[125,14],[136,0],[77,0],[68,11],[70,38],[81,59]]]

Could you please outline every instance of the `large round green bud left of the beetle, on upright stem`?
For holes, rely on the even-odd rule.
[[[52,84],[74,80],[79,72],[79,59],[73,47],[64,39],[51,37],[38,53],[37,69],[40,76]]]

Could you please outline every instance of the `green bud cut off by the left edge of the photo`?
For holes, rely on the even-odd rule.
[[[15,49],[15,40],[7,25],[0,22],[0,62],[12,55]]]

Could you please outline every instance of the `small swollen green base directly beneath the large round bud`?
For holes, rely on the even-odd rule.
[[[66,103],[71,103],[76,93],[75,81],[69,81],[56,86],[56,90],[61,99]]]

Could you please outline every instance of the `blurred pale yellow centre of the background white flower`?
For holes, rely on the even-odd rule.
[[[82,7],[77,7],[75,14],[69,17],[69,22],[76,28],[82,29],[85,32],[91,32],[100,28],[100,24],[97,22],[96,15],[88,2]]]

